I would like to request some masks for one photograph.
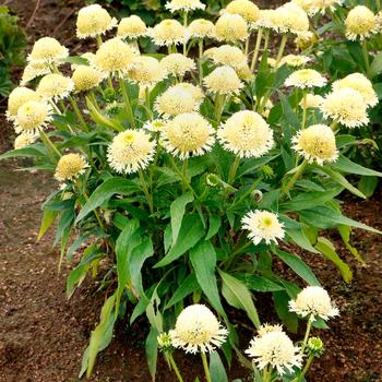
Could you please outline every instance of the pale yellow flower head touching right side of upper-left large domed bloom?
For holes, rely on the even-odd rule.
[[[135,58],[132,68],[128,72],[128,77],[142,86],[152,86],[165,76],[165,72],[159,65],[159,61],[150,56],[139,56]]]

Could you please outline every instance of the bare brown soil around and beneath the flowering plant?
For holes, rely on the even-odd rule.
[[[36,3],[39,5],[26,31],[29,44],[43,35],[53,35],[72,52],[81,52],[73,31],[75,11],[82,1],[5,1],[17,12],[24,26]],[[103,295],[95,293],[96,286],[89,280],[67,300],[65,276],[71,264],[64,265],[58,275],[52,232],[36,242],[40,204],[56,184],[47,175],[15,172],[16,167],[13,160],[0,163],[0,382],[79,381],[82,354],[98,321]],[[370,201],[347,198],[345,211],[382,229],[381,196],[379,192]],[[331,263],[302,253],[342,310],[341,318],[330,323],[329,331],[317,333],[323,337],[326,351],[314,363],[308,380],[382,381],[382,237],[355,231],[354,243],[367,261],[363,266],[354,261],[335,232],[330,236],[336,241],[341,256],[351,264],[354,280],[346,285]],[[262,301],[267,306],[266,297],[259,303]],[[262,310],[266,309],[260,307]],[[150,381],[145,335],[144,322],[133,327],[120,324],[112,344],[99,356],[91,381]],[[247,346],[247,342],[248,337],[243,338],[241,347]],[[186,358],[181,354],[176,357],[188,375],[186,381],[193,382],[196,374],[202,374],[198,358]],[[230,380],[246,374],[247,371],[234,362]],[[175,381],[162,359],[157,381]]]

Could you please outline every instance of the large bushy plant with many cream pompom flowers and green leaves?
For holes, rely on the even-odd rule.
[[[82,9],[77,36],[95,38],[97,50],[70,57],[58,40],[40,38],[9,98],[20,135],[1,158],[31,156],[34,169],[59,182],[43,205],[38,237],[56,222],[59,264],[80,252],[68,296],[88,274],[100,277],[107,295],[81,374],[91,374],[127,303],[130,323],[146,314],[151,324],[153,375],[157,335],[190,299],[207,302],[224,322],[227,332],[216,322],[212,329],[215,345],[227,337],[227,359],[232,348],[239,353],[229,309],[261,326],[254,293],[272,293],[280,320],[296,331],[296,313],[311,313],[298,298],[288,311],[300,288],[273,262],[318,287],[297,246],[334,262],[348,282],[351,270],[322,230],[337,229],[359,261],[351,228],[378,232],[344,216],[336,199],[344,189],[365,198],[347,174],[382,175],[346,157],[351,129],[368,123],[368,102],[353,87],[331,92],[311,57],[284,55],[288,38],[310,36],[307,13],[294,2],[260,11],[235,0],[213,24],[190,20],[204,8],[198,0],[167,8],[182,21],[153,28],[138,16],[118,23],[96,4]],[[117,36],[104,39],[117,23]],[[274,34],[282,38],[272,62]],[[167,53],[140,53],[144,35]],[[26,87],[36,79],[36,91]],[[314,314],[315,326],[331,315]],[[186,346],[182,335],[172,338]]]

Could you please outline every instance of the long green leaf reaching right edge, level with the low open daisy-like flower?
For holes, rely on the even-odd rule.
[[[382,231],[369,227],[363,223],[356,222],[350,219],[349,217],[344,216],[341,212],[326,207],[326,206],[317,206],[311,210],[301,211],[300,216],[303,217],[305,220],[309,222],[310,225],[313,225],[318,228],[330,228],[336,227],[338,225],[346,225],[355,228],[361,228],[365,230],[369,230],[370,232],[382,234]]]

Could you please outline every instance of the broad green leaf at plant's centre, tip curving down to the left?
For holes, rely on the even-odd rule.
[[[178,235],[178,240],[154,267],[165,266],[189,251],[204,236],[203,224],[198,215],[187,215]]]

